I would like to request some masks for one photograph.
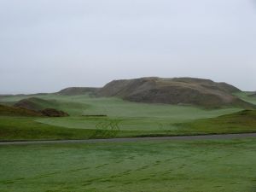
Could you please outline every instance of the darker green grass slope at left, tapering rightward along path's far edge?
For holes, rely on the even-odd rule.
[[[38,123],[32,117],[0,116],[0,141],[15,140],[60,140],[90,139],[109,137],[137,137],[145,131],[116,131],[112,128],[102,129],[68,129],[61,126]],[[146,132],[161,134],[161,131]]]

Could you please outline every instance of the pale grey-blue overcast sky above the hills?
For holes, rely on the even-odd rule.
[[[0,0],[0,94],[145,76],[256,90],[256,0]]]

